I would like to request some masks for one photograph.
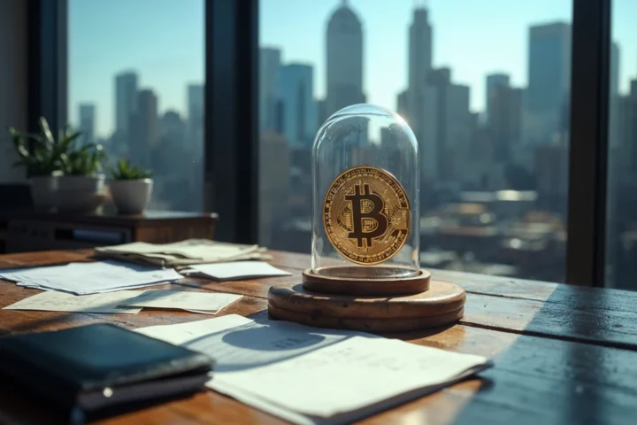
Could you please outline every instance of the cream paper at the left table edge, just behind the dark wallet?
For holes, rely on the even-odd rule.
[[[107,294],[73,295],[54,290],[25,298],[4,310],[39,310],[42,312],[127,313],[135,314],[141,308],[121,307],[122,301],[142,294],[142,290],[120,290]]]

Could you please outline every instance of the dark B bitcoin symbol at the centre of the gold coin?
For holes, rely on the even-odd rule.
[[[357,184],[354,188],[354,195],[345,197],[352,203],[354,231],[349,232],[349,238],[356,239],[358,247],[363,246],[365,239],[367,246],[372,246],[372,239],[385,235],[388,229],[388,218],[382,213],[385,202],[382,197],[370,193],[369,184],[363,185],[363,193],[360,191],[360,185]]]

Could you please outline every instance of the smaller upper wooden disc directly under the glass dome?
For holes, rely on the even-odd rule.
[[[358,269],[362,267],[357,267]],[[373,270],[377,267],[370,267]],[[380,267],[379,267],[380,268]],[[330,267],[329,274],[316,274],[311,268],[303,272],[303,287],[315,292],[343,295],[407,295],[418,294],[429,289],[431,274],[426,270],[418,270],[418,274],[402,278],[350,277],[344,279],[339,276],[355,275],[349,273],[348,267]],[[339,274],[337,271],[341,271]]]

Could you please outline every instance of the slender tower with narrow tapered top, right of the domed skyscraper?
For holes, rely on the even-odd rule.
[[[426,75],[432,67],[432,27],[425,7],[417,7],[409,30],[409,90],[425,87]]]

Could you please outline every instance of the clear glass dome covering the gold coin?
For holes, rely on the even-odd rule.
[[[312,272],[338,278],[418,274],[418,143],[395,112],[355,104],[312,147]]]

